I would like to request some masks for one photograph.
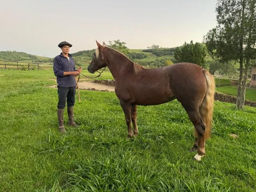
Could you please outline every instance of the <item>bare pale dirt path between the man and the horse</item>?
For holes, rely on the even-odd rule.
[[[114,86],[106,86],[94,82],[79,82],[78,83],[79,89],[80,90],[97,90],[97,91],[115,91]],[[56,87],[56,85],[51,86],[51,87]]]

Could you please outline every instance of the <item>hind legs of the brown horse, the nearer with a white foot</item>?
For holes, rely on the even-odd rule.
[[[194,111],[187,111],[188,116],[192,123],[194,124],[195,133],[194,136],[198,136],[195,138],[194,146],[191,150],[196,150],[197,148],[197,154],[194,156],[194,160],[200,161],[201,158],[205,155],[205,140],[204,140],[204,132],[206,125],[204,121],[202,120],[202,117],[198,110]]]

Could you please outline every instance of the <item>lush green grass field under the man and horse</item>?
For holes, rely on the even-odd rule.
[[[61,135],[52,71],[0,77],[1,191],[256,190],[256,108],[216,102],[206,156],[194,162],[192,123],[177,101],[139,106],[139,135],[127,141],[115,94],[81,90],[81,127]]]

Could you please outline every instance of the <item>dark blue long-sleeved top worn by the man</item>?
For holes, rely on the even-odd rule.
[[[75,64],[71,54],[68,54],[68,58],[64,57],[62,53],[56,56],[53,60],[53,71],[57,77],[57,83],[60,87],[74,87],[76,86],[76,80],[73,75],[64,76],[64,72],[75,71]]]

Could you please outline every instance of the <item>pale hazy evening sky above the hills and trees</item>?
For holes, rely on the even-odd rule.
[[[38,56],[96,48],[95,40],[130,49],[202,42],[214,28],[217,0],[0,0],[0,51]]]

